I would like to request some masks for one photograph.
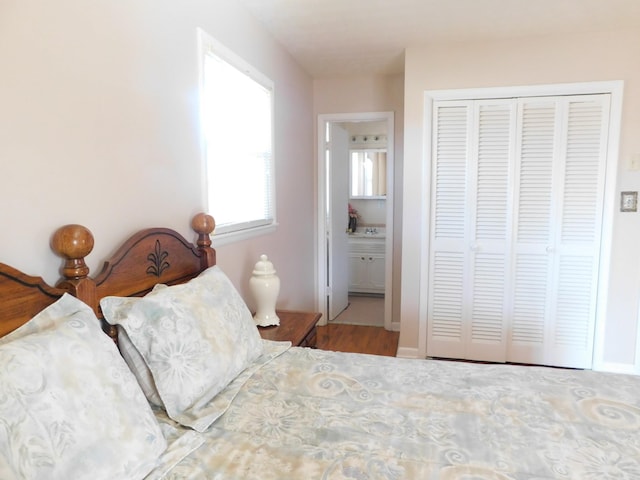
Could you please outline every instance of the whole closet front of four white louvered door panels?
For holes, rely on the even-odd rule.
[[[434,102],[427,355],[591,366],[609,97]]]

